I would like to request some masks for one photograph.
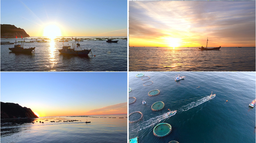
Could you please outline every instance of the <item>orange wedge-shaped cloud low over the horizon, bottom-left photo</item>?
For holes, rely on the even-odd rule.
[[[127,102],[110,105],[103,108],[93,109],[93,110],[84,112],[83,114],[85,115],[127,114]]]

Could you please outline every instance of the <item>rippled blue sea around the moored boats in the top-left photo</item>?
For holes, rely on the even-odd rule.
[[[25,41],[36,41],[37,38],[44,37],[32,36]],[[64,38],[72,37],[68,36]],[[73,36],[73,38],[75,37]],[[103,37],[79,36],[76,38]],[[113,38],[127,38],[127,36],[113,36]],[[1,38],[1,42],[15,42],[15,40],[18,42],[24,39]],[[62,49],[63,44],[72,47],[74,40],[68,42],[45,40],[47,42],[25,43],[24,48],[36,47],[35,53],[33,54],[17,54],[11,52],[8,48],[13,48],[15,44],[1,45],[1,71],[127,71],[127,40],[117,40],[118,43],[80,41],[80,47],[76,46],[75,50],[91,49],[88,57],[60,54],[58,50]]]

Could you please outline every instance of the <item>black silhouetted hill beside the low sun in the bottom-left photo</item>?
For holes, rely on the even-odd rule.
[[[27,107],[21,107],[15,103],[1,102],[1,119],[10,118],[38,118],[34,112]]]

